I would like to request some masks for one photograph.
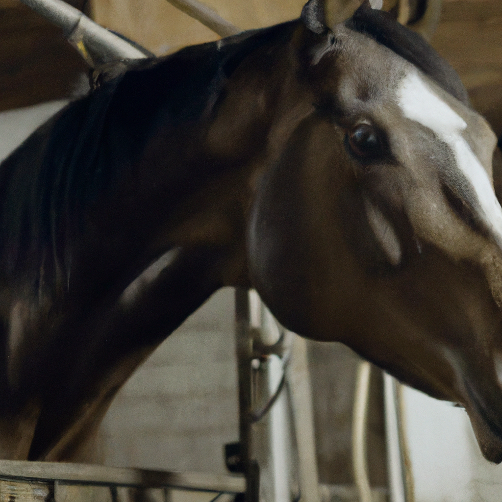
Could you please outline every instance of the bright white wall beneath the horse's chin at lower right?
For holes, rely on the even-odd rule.
[[[483,458],[467,413],[403,388],[415,502],[500,502],[502,464]]]

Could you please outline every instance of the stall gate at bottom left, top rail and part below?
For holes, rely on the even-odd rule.
[[[1,502],[230,502],[242,476],[0,460]]]

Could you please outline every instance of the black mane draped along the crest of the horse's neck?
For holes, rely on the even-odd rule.
[[[0,164],[0,270],[9,273],[47,253],[64,262],[65,241],[82,229],[88,208],[103,191],[113,192],[152,136],[208,118],[239,63],[291,37],[294,24],[132,62],[38,128]],[[202,174],[171,170],[173,180],[189,180],[185,191]]]

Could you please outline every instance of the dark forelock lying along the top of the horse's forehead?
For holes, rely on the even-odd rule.
[[[399,54],[469,106],[467,91],[450,64],[418,33],[397,23],[390,14],[373,10],[364,3],[345,26],[373,38]]]

